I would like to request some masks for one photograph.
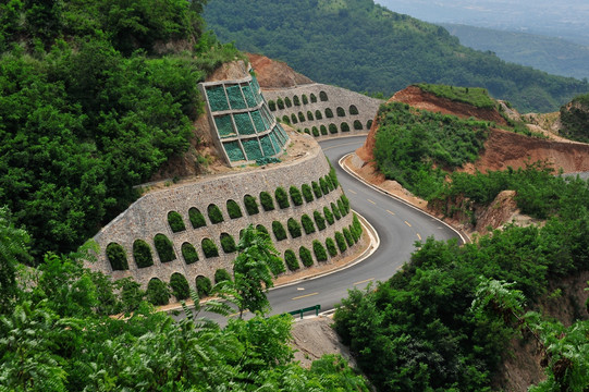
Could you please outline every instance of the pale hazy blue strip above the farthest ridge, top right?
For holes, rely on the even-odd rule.
[[[376,0],[427,22],[589,39],[589,0]]]

